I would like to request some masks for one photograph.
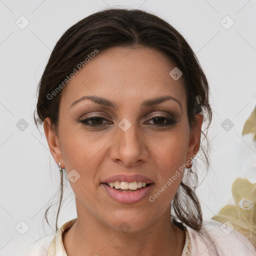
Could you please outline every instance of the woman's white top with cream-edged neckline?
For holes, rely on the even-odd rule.
[[[26,247],[26,256],[67,256],[63,242],[63,231],[75,222],[76,218],[64,223],[56,233],[44,236]],[[255,256],[256,249],[241,233],[213,219],[204,222],[205,230],[214,241],[219,256]],[[213,256],[212,246],[200,236],[198,231],[185,229],[185,244],[181,256]],[[69,255],[68,255],[69,256]]]

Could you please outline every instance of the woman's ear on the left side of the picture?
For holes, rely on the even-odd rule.
[[[55,131],[53,130],[51,126],[51,121],[49,117],[46,117],[43,121],[43,129],[44,133],[48,142],[48,146],[51,152],[51,155],[53,156],[56,164],[58,165],[58,162],[60,162],[60,166],[63,166],[63,157],[62,157],[62,151],[59,143],[59,138]],[[62,163],[62,164],[61,164]],[[64,167],[62,167],[64,168]]]

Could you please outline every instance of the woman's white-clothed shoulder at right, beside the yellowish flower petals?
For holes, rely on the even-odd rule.
[[[191,242],[191,256],[217,255],[212,244],[220,256],[256,255],[254,246],[244,235],[213,219],[205,221],[200,231],[189,227],[187,231]]]

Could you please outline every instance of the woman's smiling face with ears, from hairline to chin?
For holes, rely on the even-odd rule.
[[[182,76],[169,75],[174,67],[152,48],[113,47],[99,51],[62,89],[58,136],[48,117],[44,130],[67,172],[78,219],[139,230],[169,218],[179,167],[198,151],[202,123],[196,114],[189,130]],[[117,181],[114,187],[110,181]],[[137,188],[141,182],[150,184]]]

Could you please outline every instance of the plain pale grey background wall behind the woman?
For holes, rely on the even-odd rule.
[[[190,43],[206,73],[213,150],[210,170],[197,190],[204,219],[232,203],[233,180],[248,176],[245,163],[256,164],[252,136],[241,136],[256,104],[255,0],[0,0],[0,255],[18,255],[21,246],[44,235],[43,214],[59,187],[58,166],[32,115],[50,52],[69,26],[108,6],[147,10],[170,22]],[[229,123],[223,123],[226,118]],[[68,187],[64,196],[58,226],[76,217]],[[52,227],[56,209],[51,211]],[[44,228],[52,232],[46,223]]]

